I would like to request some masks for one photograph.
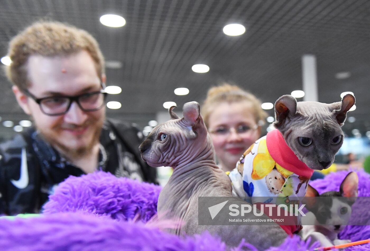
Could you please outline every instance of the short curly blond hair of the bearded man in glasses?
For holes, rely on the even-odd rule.
[[[82,50],[90,54],[97,74],[101,77],[105,70],[104,57],[92,35],[68,24],[38,21],[9,42],[8,56],[12,62],[6,67],[6,76],[20,89],[26,89],[30,85],[27,79],[27,61],[31,55],[53,57]]]

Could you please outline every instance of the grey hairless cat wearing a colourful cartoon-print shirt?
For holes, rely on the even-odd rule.
[[[313,170],[334,162],[343,143],[341,126],[354,103],[350,94],[332,104],[297,102],[290,95],[277,99],[277,130],[256,140],[229,173],[233,195],[252,197],[253,204],[303,197]]]

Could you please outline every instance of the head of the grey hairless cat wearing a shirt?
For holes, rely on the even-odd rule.
[[[284,95],[275,103],[274,126],[299,160],[311,169],[326,169],[343,144],[341,126],[354,103],[350,94],[332,104],[297,102]]]

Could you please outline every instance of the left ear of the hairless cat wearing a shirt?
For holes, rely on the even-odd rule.
[[[275,102],[275,122],[277,128],[282,125],[286,117],[293,118],[297,113],[297,100],[291,95],[283,95]]]

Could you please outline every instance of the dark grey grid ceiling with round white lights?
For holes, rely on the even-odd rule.
[[[248,89],[262,102],[302,89],[301,57],[317,58],[320,102],[340,101],[352,91],[356,118],[344,130],[370,130],[370,1],[367,0],[1,0],[0,55],[7,42],[40,18],[73,24],[90,32],[106,60],[122,62],[107,69],[107,84],[122,93],[110,100],[122,108],[108,116],[136,122],[142,128],[165,101],[182,106],[202,102],[209,87],[223,81]],[[126,20],[120,28],[103,26],[103,14]],[[240,23],[246,33],[230,37],[226,24]],[[191,70],[207,64],[205,74]],[[350,77],[337,79],[337,72]],[[26,118],[16,105],[10,84],[1,76],[0,115]],[[186,87],[189,95],[176,96]],[[299,99],[302,100],[302,99]],[[180,109],[178,109],[179,111]],[[269,111],[273,115],[273,111]]]

